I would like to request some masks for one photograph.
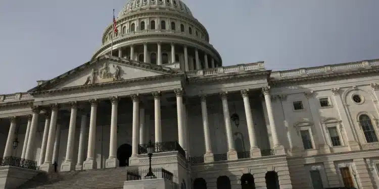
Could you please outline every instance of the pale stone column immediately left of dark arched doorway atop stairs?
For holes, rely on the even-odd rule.
[[[118,100],[117,96],[111,98],[112,114],[111,114],[111,136],[109,142],[109,157],[105,161],[105,167],[117,167],[117,117],[118,117]]]

